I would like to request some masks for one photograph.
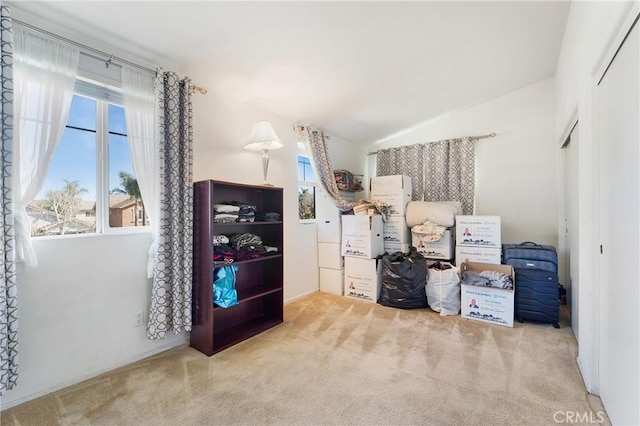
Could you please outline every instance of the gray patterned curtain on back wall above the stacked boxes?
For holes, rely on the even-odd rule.
[[[378,176],[411,177],[413,200],[460,201],[464,214],[473,214],[475,142],[451,139],[378,151]]]

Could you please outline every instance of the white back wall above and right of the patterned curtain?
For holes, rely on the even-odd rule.
[[[554,81],[452,112],[369,148],[496,133],[476,149],[479,215],[499,215],[502,241],[557,243]],[[373,160],[370,161],[373,164]]]

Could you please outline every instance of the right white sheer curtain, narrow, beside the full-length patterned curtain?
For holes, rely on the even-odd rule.
[[[154,80],[155,76],[148,72],[127,66],[122,68],[124,114],[133,171],[153,230],[147,263],[149,278],[153,276],[160,217],[160,146],[156,133]]]

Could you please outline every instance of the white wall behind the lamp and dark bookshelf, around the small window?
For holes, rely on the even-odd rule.
[[[192,66],[195,82],[206,72]],[[285,301],[318,291],[318,260],[315,223],[298,222],[297,141],[295,122],[220,94],[194,97],[194,181],[225,180],[262,183],[261,153],[246,151],[244,144],[256,121],[270,121],[284,147],[269,153],[268,180],[284,188],[284,297]],[[305,123],[307,124],[307,123]],[[329,153],[334,168],[363,173],[365,150],[354,143],[330,137]]]

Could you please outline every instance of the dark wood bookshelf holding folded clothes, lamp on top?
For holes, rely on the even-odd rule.
[[[214,205],[238,201],[256,213],[283,214],[283,190],[272,186],[206,180],[194,183],[193,327],[191,346],[206,355],[255,336],[283,321],[283,222],[214,223]],[[213,260],[213,236],[249,232],[278,248],[275,254],[232,263]],[[214,270],[237,265],[238,304],[213,303]]]

